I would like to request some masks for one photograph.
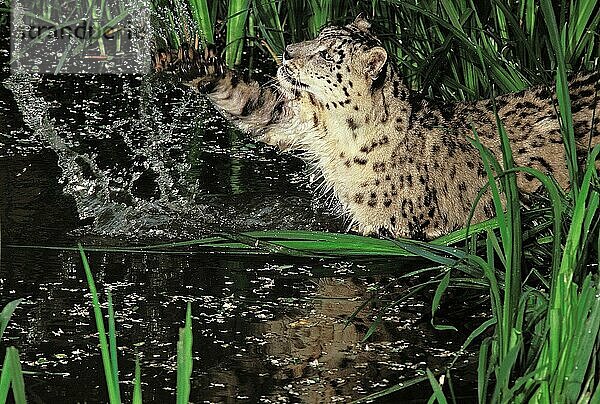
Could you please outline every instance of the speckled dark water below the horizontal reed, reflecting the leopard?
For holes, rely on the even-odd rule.
[[[193,401],[348,402],[448,363],[461,338],[444,341],[412,300],[361,343],[377,307],[345,321],[378,280],[315,278],[318,261],[233,261],[197,255],[89,253],[117,315],[121,380],[130,398],[134,351],[149,402],[172,400],[177,330],[192,301]],[[32,394],[47,402],[106,399],[89,293],[77,253],[5,249],[4,298],[27,296],[8,328]],[[337,263],[352,274],[357,268]],[[26,280],[26,281],[24,281]],[[426,365],[425,365],[426,364]],[[413,392],[423,398],[427,392]],[[96,395],[94,394],[93,397]],[[407,398],[409,396],[402,395]],[[398,396],[390,398],[396,402]]]

